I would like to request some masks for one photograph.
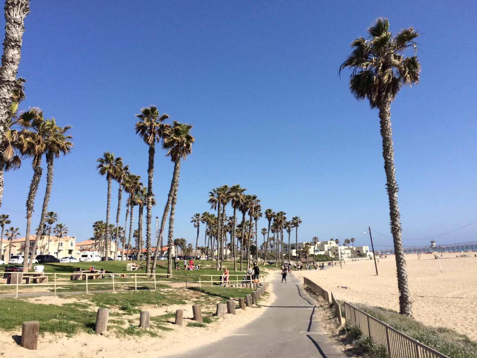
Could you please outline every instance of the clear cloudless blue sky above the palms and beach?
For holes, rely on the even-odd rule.
[[[476,221],[475,2],[363,4],[32,2],[22,106],[41,107],[73,126],[74,136],[73,152],[55,161],[49,210],[78,241],[90,238],[106,211],[96,158],[114,152],[146,183],[147,147],[135,135],[135,114],[157,105],[193,124],[196,137],[181,168],[175,237],[195,242],[190,217],[210,209],[208,191],[239,183],[263,210],[300,216],[300,241],[369,244],[363,232],[371,226],[377,245],[392,246],[378,112],[353,98],[348,73],[337,77],[350,42],[383,16],[393,31],[413,25],[422,33],[421,83],[401,90],[391,108],[404,245],[427,245],[422,238]],[[172,177],[164,154],[156,154],[154,216],[162,215]],[[1,211],[22,236],[31,175],[29,160],[5,175]],[[117,184],[111,221],[116,194]],[[124,225],[124,211],[121,218]],[[466,242],[476,233],[477,223],[436,241]]]

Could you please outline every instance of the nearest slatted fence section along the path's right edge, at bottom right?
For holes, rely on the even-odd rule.
[[[360,327],[363,337],[371,337],[375,344],[386,347],[391,358],[448,358],[347,302],[344,312],[347,323]]]

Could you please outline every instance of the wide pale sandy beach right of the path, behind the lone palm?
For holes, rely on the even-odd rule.
[[[462,254],[462,253],[461,253]],[[477,340],[477,257],[456,257],[445,253],[440,260],[433,254],[406,255],[407,274],[413,316],[435,327],[453,328]],[[347,261],[340,268],[325,264],[325,270],[294,272],[297,277],[308,277],[333,295],[350,303],[364,303],[399,310],[396,263],[393,255],[382,258],[376,276],[373,260]],[[342,286],[348,288],[342,288]]]

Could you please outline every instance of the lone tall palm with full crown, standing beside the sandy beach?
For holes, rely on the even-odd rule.
[[[384,171],[389,198],[391,232],[396,256],[397,286],[399,289],[399,311],[411,316],[411,297],[407,282],[406,261],[401,237],[401,221],[397,202],[394,168],[394,145],[391,130],[391,102],[404,85],[419,83],[421,65],[416,56],[419,33],[410,27],[394,36],[389,31],[388,19],[377,19],[368,29],[369,40],[355,39],[353,52],[341,64],[339,73],[352,68],[350,77],[351,93],[358,99],[368,99],[371,108],[379,109],[381,136],[383,137]],[[414,49],[414,56],[406,56],[408,49]]]

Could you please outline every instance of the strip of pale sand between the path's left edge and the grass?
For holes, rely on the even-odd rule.
[[[272,285],[269,285],[270,296],[264,303],[270,304],[275,300]],[[18,346],[12,335],[21,335],[21,329],[16,332],[0,332],[0,352],[5,354],[2,358],[157,358],[169,354],[186,352],[204,346],[224,337],[234,334],[241,327],[258,318],[267,309],[266,307],[247,308],[245,311],[236,309],[237,314],[226,315],[207,327],[187,327],[187,318],[192,318],[192,305],[175,305],[168,307],[155,307],[145,305],[151,316],[163,315],[166,310],[171,312],[176,309],[185,309],[184,326],[178,327],[170,324],[173,331],[165,331],[160,337],[145,335],[136,338],[118,338],[114,335],[95,336],[80,334],[73,338],[45,334],[39,338],[38,350],[29,351]],[[113,317],[114,318],[114,317]]]

